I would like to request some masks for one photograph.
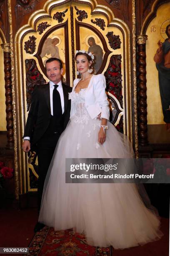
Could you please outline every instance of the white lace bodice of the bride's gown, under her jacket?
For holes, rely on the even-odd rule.
[[[76,123],[87,123],[90,116],[85,108],[85,93],[87,89],[81,89],[79,93],[75,91],[69,93],[71,99],[71,108],[74,110],[74,118]]]

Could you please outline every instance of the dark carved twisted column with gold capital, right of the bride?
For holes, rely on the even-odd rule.
[[[148,36],[137,36],[138,45],[138,136],[139,145],[148,145],[147,95],[146,95],[146,40]]]

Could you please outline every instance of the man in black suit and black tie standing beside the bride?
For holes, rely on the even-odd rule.
[[[70,119],[71,102],[68,93],[72,88],[61,82],[62,62],[50,58],[45,64],[48,84],[37,85],[32,93],[32,103],[24,131],[23,151],[36,146],[38,157],[38,210],[43,186],[57,141]],[[36,229],[37,231],[39,228]]]

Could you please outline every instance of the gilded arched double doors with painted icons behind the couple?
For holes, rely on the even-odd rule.
[[[94,74],[104,74],[110,105],[110,121],[128,135],[133,143],[131,49],[127,24],[115,18],[110,8],[95,1],[68,2],[49,0],[43,9],[32,13],[28,24],[15,36],[15,67],[18,93],[18,141],[22,143],[32,91],[36,84],[48,82],[45,62],[61,59],[63,82],[72,87],[77,77],[75,51],[82,49],[95,55]],[[37,156],[31,152],[20,158],[23,192],[37,187]],[[28,160],[28,161],[27,161]]]

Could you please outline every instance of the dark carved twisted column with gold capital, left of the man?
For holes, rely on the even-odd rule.
[[[13,97],[11,80],[11,57],[10,44],[1,44],[4,51],[4,72],[5,72],[5,97],[6,97],[6,120],[7,120],[7,147],[14,147],[13,133]]]

